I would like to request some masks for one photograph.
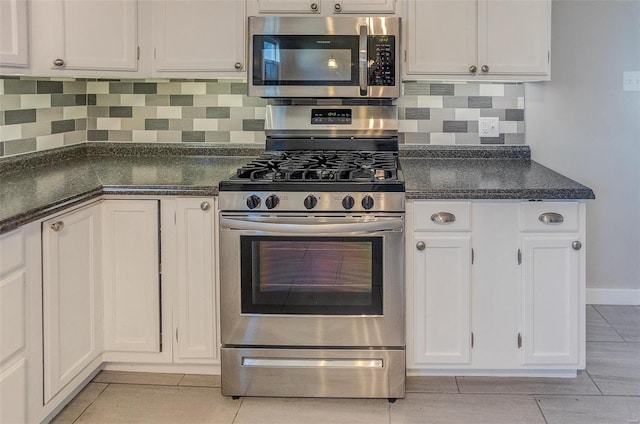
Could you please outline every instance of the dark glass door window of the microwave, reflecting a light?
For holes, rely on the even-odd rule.
[[[253,38],[254,85],[358,85],[357,36]]]

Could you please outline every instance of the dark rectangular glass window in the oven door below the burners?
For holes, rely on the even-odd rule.
[[[382,315],[382,237],[241,241],[242,312]]]

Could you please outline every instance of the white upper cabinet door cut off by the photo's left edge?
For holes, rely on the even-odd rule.
[[[29,66],[27,0],[0,1],[0,66]]]

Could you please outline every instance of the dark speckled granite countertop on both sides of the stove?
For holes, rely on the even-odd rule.
[[[0,160],[0,234],[104,194],[213,196],[259,147],[87,143]],[[593,199],[527,146],[407,146],[407,199]]]

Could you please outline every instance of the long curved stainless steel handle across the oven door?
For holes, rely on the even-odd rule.
[[[375,233],[380,231],[402,231],[402,219],[384,221],[324,223],[274,223],[254,220],[220,218],[220,226],[229,230],[263,231],[280,234],[326,234],[326,233]]]

